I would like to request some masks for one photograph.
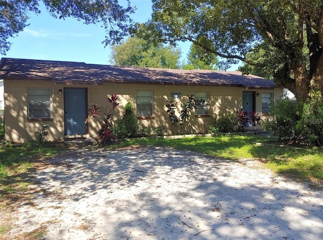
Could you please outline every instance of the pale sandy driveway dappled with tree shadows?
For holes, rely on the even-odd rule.
[[[323,193],[257,161],[160,147],[72,150],[37,170],[14,237],[323,239]]]

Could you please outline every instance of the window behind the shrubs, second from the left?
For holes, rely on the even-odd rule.
[[[153,103],[152,91],[137,91],[136,103],[137,103],[137,116],[152,116],[152,103]]]

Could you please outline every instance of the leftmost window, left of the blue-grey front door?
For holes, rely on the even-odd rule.
[[[51,117],[50,88],[28,88],[28,117]]]

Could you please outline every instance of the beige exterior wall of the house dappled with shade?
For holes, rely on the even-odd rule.
[[[5,139],[12,142],[23,142],[35,139],[34,133],[41,121],[31,122],[27,119],[27,89],[28,88],[50,88],[52,103],[52,120],[46,121],[49,125],[49,135],[46,140],[62,139],[64,134],[64,88],[80,87],[87,88],[88,105],[98,102],[99,107],[109,106],[105,100],[111,94],[117,94],[121,104],[116,108],[115,117],[124,114],[124,105],[130,101],[136,107],[136,91],[153,91],[153,114],[154,119],[138,119],[144,126],[151,129],[164,125],[167,127],[167,134],[174,134],[168,120],[167,108],[165,107],[171,92],[181,92],[182,96],[192,95],[195,92],[208,92],[209,115],[196,117],[191,114],[190,125],[184,133],[207,133],[208,126],[213,123],[214,114],[220,112],[235,111],[242,107],[242,92],[255,91],[259,93],[256,97],[256,111],[261,114],[261,93],[274,92],[275,99],[283,94],[282,88],[275,90],[246,90],[240,87],[209,87],[209,86],[164,86],[145,84],[116,84],[105,83],[104,85],[61,85],[53,84],[51,81],[23,81],[5,80]],[[63,94],[59,95],[59,89]],[[177,99],[178,100],[178,99]],[[180,105],[180,103],[179,103]],[[104,115],[104,114],[102,114]],[[87,137],[97,137],[99,123],[91,116],[88,117]]]

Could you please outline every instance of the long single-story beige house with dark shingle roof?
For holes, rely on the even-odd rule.
[[[4,79],[5,139],[35,139],[41,122],[49,125],[47,140],[97,137],[99,123],[88,115],[89,105],[107,107],[108,96],[117,94],[121,104],[115,117],[124,114],[129,101],[142,125],[167,127],[176,133],[167,114],[167,100],[195,95],[207,106],[190,115],[184,133],[207,133],[216,114],[245,111],[268,113],[268,103],[283,95],[273,81],[240,72],[174,70],[95,65],[76,62],[2,58]],[[102,114],[104,115],[104,114]]]

